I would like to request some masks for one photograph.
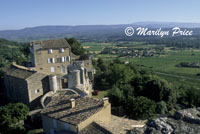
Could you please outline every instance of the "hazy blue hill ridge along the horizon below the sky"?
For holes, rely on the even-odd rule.
[[[176,23],[176,22],[137,22],[133,24],[121,25],[79,25],[79,26],[38,26],[24,28],[21,30],[0,31],[0,38],[14,41],[31,41],[50,38],[76,37],[76,38],[96,38],[108,37],[124,34],[127,26],[148,27],[148,28],[200,28],[200,23]]]

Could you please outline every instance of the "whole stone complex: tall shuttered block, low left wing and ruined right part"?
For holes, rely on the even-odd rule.
[[[8,101],[23,102],[34,108],[51,91],[71,88],[81,96],[92,95],[91,60],[75,61],[72,56],[76,56],[65,39],[34,41],[30,51],[31,67],[12,64],[5,69],[4,94]]]

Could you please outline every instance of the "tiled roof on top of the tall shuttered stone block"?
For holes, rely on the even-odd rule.
[[[56,39],[56,40],[39,40],[33,41],[33,45],[38,45],[42,47],[42,49],[54,49],[54,48],[66,48],[70,47],[69,43],[65,39]]]

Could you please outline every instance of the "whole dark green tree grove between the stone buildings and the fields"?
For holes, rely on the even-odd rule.
[[[133,63],[119,59],[93,61],[97,69],[95,88],[108,91],[112,106],[122,106],[132,119],[148,119],[159,114],[171,114],[176,109],[198,107],[200,90],[175,86],[155,74],[139,69]],[[191,91],[191,92],[189,92]]]

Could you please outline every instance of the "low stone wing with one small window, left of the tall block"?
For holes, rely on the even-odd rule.
[[[49,91],[46,74],[12,64],[4,71],[4,96],[8,102],[22,102],[34,108],[40,105],[40,98]]]

